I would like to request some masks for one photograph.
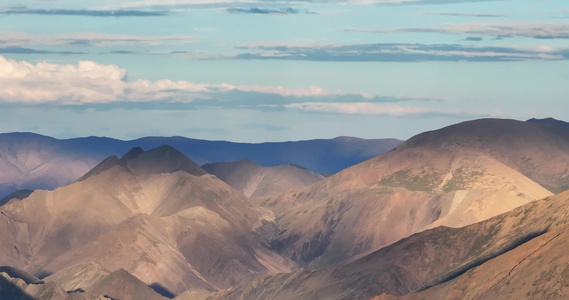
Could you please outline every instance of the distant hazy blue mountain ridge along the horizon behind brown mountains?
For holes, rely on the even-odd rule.
[[[57,140],[32,133],[4,133],[0,134],[0,199],[19,189],[54,189],[71,183],[106,157],[122,155],[134,147],[148,150],[169,145],[200,165],[249,159],[263,166],[294,164],[332,174],[386,152],[400,142],[350,137],[262,144],[184,137]]]

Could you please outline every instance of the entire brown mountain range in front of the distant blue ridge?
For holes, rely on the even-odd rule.
[[[0,206],[0,295],[565,298],[568,170],[553,119],[451,125],[327,178],[133,147]]]

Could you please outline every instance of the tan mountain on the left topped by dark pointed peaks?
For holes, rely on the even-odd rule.
[[[213,175],[188,172],[206,173],[171,147],[133,149],[73,184],[8,203],[0,264],[51,274],[96,262],[171,294],[295,269],[262,245],[260,234],[277,229],[271,212]]]

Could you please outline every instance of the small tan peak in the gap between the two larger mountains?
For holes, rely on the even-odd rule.
[[[213,163],[202,168],[242,191],[247,197],[278,195],[309,186],[324,178],[308,169],[293,165],[264,167],[243,159],[232,163]]]

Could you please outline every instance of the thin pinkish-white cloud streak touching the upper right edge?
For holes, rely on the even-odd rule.
[[[569,39],[569,24],[537,22],[469,22],[463,24],[445,24],[441,27],[409,27],[389,29],[346,29],[350,32],[398,33],[398,32],[435,32],[445,34],[480,34],[497,38],[528,37],[536,39]]]

